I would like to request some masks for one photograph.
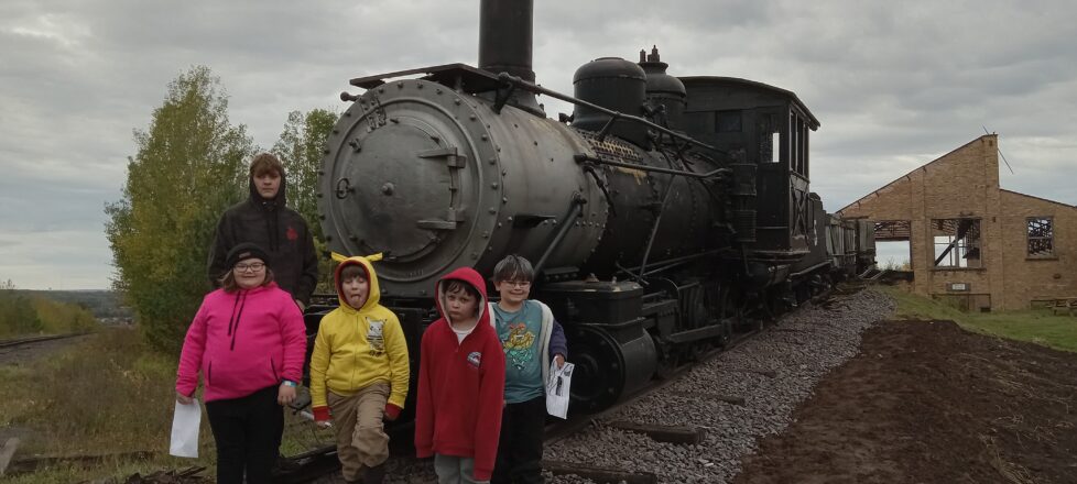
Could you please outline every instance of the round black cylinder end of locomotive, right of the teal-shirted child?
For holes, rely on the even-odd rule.
[[[617,340],[588,324],[566,326],[565,332],[576,364],[570,408],[590,414],[613,405],[624,389],[624,355]]]

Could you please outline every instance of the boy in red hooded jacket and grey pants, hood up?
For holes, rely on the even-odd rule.
[[[415,450],[434,455],[438,482],[490,480],[504,404],[504,353],[490,324],[486,283],[470,267],[437,282],[442,318],[423,334]]]

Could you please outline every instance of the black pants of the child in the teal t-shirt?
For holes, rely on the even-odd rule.
[[[498,462],[491,484],[542,483],[542,441],[546,428],[546,396],[509,404],[501,411]]]

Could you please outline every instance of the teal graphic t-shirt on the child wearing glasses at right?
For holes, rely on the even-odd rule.
[[[493,316],[504,350],[504,400],[519,404],[542,396],[542,308],[533,300],[524,301],[515,312],[493,305]]]

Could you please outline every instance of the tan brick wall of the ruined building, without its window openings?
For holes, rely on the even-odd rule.
[[[909,220],[913,290],[965,298],[971,309],[1019,309],[1036,298],[1077,296],[1077,208],[999,188],[998,136],[980,136],[838,211]],[[1053,217],[1054,260],[1026,258],[1026,218]],[[935,268],[933,219],[980,220],[980,268]],[[1056,276],[1057,275],[1057,276]],[[967,292],[951,292],[954,283]]]

